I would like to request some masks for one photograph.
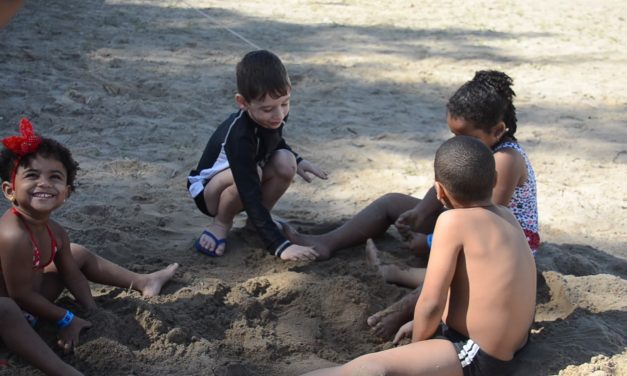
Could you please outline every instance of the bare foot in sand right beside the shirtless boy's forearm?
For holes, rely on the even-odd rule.
[[[373,332],[383,339],[392,339],[403,324],[413,319],[414,309],[416,308],[416,302],[418,302],[421,290],[422,286],[405,295],[391,306],[368,317],[367,322]]]

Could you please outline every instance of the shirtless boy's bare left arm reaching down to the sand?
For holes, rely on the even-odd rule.
[[[436,223],[425,281],[414,310],[412,342],[431,338],[442,320],[462,249],[459,236],[462,223],[456,217],[455,210],[447,211]]]

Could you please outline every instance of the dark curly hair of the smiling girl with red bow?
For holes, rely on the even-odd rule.
[[[74,180],[76,179],[76,172],[79,170],[78,162],[72,157],[72,152],[59,142],[42,137],[41,144],[37,151],[30,154],[26,154],[23,157],[19,157],[11,150],[3,148],[0,151],[0,178],[2,181],[10,182],[13,178],[13,169],[15,168],[15,161],[19,159],[20,166],[27,167],[30,162],[36,156],[42,156],[44,158],[53,158],[61,162],[63,167],[67,170],[67,185],[70,186],[70,191],[74,191]]]

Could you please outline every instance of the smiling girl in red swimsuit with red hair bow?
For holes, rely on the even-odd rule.
[[[87,281],[154,296],[178,264],[137,274],[70,244],[50,215],[74,190],[78,163],[63,145],[35,134],[26,119],[20,133],[4,138],[0,153],[2,192],[12,204],[0,217],[0,296],[13,298],[33,321],[56,322],[59,345],[71,351],[91,323],[53,303],[64,288],[90,311],[96,304]]]

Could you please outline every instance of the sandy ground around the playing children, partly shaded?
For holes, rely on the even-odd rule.
[[[510,74],[543,239],[520,374],[626,375],[627,3],[513,3],[27,0],[0,30],[2,134],[27,116],[73,150],[78,191],[56,215],[72,240],[136,271],[182,264],[155,298],[94,285],[103,312],[64,359],[88,375],[295,375],[391,346],[366,318],[407,290],[363,247],[282,262],[235,230],[224,258],[192,251],[207,220],[185,177],[258,46],[292,77],[288,142],[330,173],[275,208],[302,231],[424,194],[447,98],[476,70]],[[377,244],[418,262],[393,229]],[[1,374],[38,374],[10,360]]]

